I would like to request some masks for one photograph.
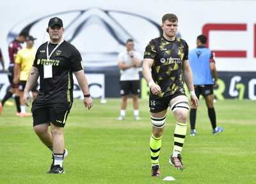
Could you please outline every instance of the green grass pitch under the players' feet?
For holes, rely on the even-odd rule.
[[[46,174],[51,152],[33,132],[32,118],[15,116],[15,106],[4,105],[0,116],[0,183],[256,183],[256,102],[217,101],[221,134],[212,135],[204,100],[197,112],[195,137],[182,150],[186,169],[168,164],[173,149],[175,119],[168,110],[159,157],[161,178],[152,178],[148,100],[140,100],[141,121],[134,121],[132,100],[124,121],[117,121],[120,99],[94,99],[88,111],[75,100],[65,127],[65,174]],[[10,100],[10,102],[14,102]],[[163,181],[172,176],[175,181]]]

